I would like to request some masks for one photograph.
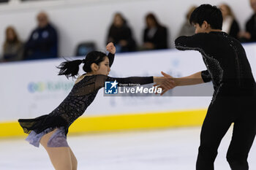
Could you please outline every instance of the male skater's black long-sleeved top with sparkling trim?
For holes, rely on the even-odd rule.
[[[204,82],[214,84],[214,97],[222,90],[233,95],[239,90],[254,90],[255,80],[244,47],[225,32],[212,31],[193,36],[180,36],[175,41],[178,50],[197,50],[203,55],[207,70],[201,72]]]

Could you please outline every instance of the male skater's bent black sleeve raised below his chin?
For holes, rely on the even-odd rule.
[[[175,47],[178,50],[200,50],[204,43],[206,34],[199,33],[193,36],[179,36],[175,40]]]

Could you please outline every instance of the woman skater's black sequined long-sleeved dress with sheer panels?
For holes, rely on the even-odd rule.
[[[112,58],[110,56],[108,57],[110,58],[111,66],[113,56]],[[31,131],[40,134],[46,129],[53,131],[54,128],[64,128],[65,134],[67,135],[69,125],[83,115],[86,108],[94,101],[98,90],[105,86],[105,81],[115,80],[121,84],[133,83],[145,85],[153,83],[153,77],[113,78],[101,74],[85,76],[74,85],[67,98],[53,112],[34,119],[19,119],[18,122],[26,134],[30,134]],[[50,131],[48,130],[46,133]]]

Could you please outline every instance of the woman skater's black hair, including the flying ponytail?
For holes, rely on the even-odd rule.
[[[79,65],[84,63],[83,71],[91,72],[91,64],[96,63],[99,65],[100,62],[105,60],[105,57],[108,57],[105,53],[99,51],[91,51],[86,55],[86,58],[83,60],[75,60],[75,61],[64,61],[59,66],[60,69],[58,75],[65,75],[67,78],[76,77],[79,72]]]

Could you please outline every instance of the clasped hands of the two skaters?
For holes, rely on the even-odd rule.
[[[164,77],[154,77],[154,84],[157,88],[162,88],[161,96],[167,92],[167,90],[173,89],[176,87],[176,82],[173,77],[171,77],[169,74],[166,74],[165,72],[161,72],[161,74]]]

